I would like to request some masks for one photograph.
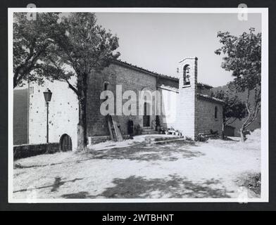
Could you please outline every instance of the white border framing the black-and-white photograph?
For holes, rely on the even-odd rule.
[[[13,198],[13,13],[240,13],[239,8],[8,8],[8,203],[239,203],[238,198],[113,198],[113,199],[15,199]],[[261,198],[248,203],[269,202],[268,137],[268,8],[247,8],[246,13],[261,13]]]

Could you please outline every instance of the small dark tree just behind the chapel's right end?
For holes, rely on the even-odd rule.
[[[225,138],[225,127],[232,124],[236,120],[242,120],[246,117],[246,105],[238,96],[231,95],[228,91],[216,91],[212,96],[219,98],[225,102],[222,111],[222,139]]]

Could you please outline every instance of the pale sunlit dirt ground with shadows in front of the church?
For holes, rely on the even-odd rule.
[[[261,172],[260,136],[256,131],[246,143],[162,146],[141,142],[140,136],[98,144],[88,153],[17,160],[13,198],[239,198],[244,193],[259,198],[258,191],[242,186],[241,177]]]

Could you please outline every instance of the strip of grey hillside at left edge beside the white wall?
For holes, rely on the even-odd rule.
[[[27,89],[13,90],[13,144],[27,143]]]

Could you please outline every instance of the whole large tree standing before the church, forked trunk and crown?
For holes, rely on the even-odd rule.
[[[118,37],[96,25],[94,13],[70,13],[54,30],[55,45],[39,70],[47,79],[66,82],[79,101],[77,148],[87,149],[87,78],[106,68],[120,53]],[[76,77],[75,84],[71,77]]]

